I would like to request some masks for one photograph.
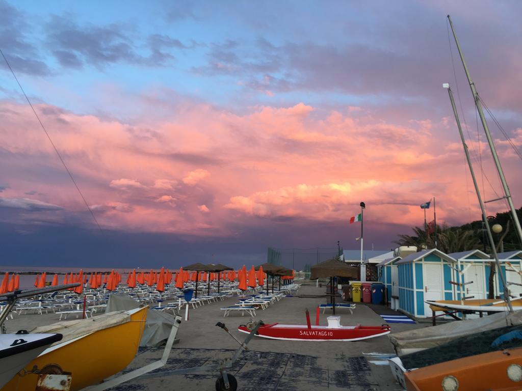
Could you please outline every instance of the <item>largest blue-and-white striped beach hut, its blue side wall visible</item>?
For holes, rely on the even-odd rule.
[[[415,317],[432,315],[424,300],[454,300],[456,260],[444,252],[422,250],[395,261],[399,282],[399,309]]]

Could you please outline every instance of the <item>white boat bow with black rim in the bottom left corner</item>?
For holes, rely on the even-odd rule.
[[[61,334],[0,334],[0,388]]]

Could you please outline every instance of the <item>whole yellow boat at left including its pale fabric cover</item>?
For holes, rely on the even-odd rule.
[[[1,391],[32,391],[38,374],[70,372],[70,391],[98,384],[122,371],[136,356],[147,320],[147,309],[110,312],[90,319],[58,322],[31,333],[61,330],[64,338],[45,349],[13,377]]]

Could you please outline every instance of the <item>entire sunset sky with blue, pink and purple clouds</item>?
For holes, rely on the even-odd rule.
[[[0,0],[0,49],[100,226],[0,58],[0,264],[238,266],[268,247],[357,249],[360,201],[367,249],[422,226],[432,198],[438,224],[480,219],[442,83],[483,198],[501,188],[446,15],[521,148],[521,13],[516,1]],[[521,162],[489,124],[519,207]]]

